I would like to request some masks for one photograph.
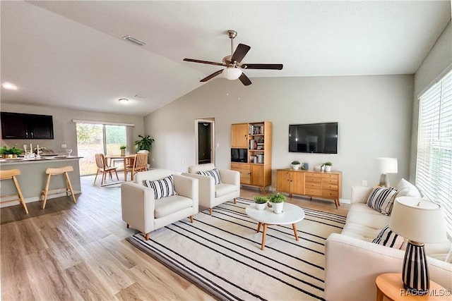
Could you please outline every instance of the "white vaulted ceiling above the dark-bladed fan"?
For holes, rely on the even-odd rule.
[[[256,77],[413,74],[451,1],[0,1],[1,102],[144,116],[247,44]],[[123,39],[131,35],[147,44]],[[213,80],[226,80],[217,76]],[[207,83],[208,85],[208,83]],[[120,104],[118,99],[129,99]]]

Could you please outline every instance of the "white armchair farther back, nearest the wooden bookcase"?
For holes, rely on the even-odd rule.
[[[212,163],[198,164],[189,167],[189,173],[182,173],[184,176],[190,176],[199,180],[199,204],[209,209],[212,215],[212,208],[218,204],[234,199],[240,196],[240,173],[229,169],[219,169],[220,184],[215,185],[215,179],[210,176],[201,176],[198,171],[211,171],[215,168]]]

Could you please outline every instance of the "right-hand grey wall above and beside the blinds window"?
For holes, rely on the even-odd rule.
[[[417,156],[417,125],[419,121],[419,100],[417,97],[431,87],[436,80],[452,68],[452,25],[448,25],[436,40],[415,74],[415,94],[412,113],[412,140],[410,161],[410,182],[415,183]]]

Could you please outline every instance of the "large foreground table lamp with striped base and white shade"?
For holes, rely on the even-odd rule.
[[[408,239],[403,259],[403,286],[413,295],[424,295],[430,288],[424,243],[446,240],[442,207],[426,199],[397,197],[393,204],[389,228]]]

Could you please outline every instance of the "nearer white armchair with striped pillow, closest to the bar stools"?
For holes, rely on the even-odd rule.
[[[144,180],[162,180],[172,176],[177,195],[155,199],[155,190],[143,184]],[[164,169],[136,173],[133,182],[121,185],[122,220],[127,228],[135,228],[145,234],[186,217],[193,223],[198,213],[198,180]]]

